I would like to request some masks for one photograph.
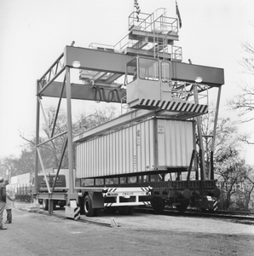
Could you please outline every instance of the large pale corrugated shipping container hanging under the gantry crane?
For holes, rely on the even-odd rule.
[[[193,123],[149,119],[77,146],[77,177],[188,167]]]

